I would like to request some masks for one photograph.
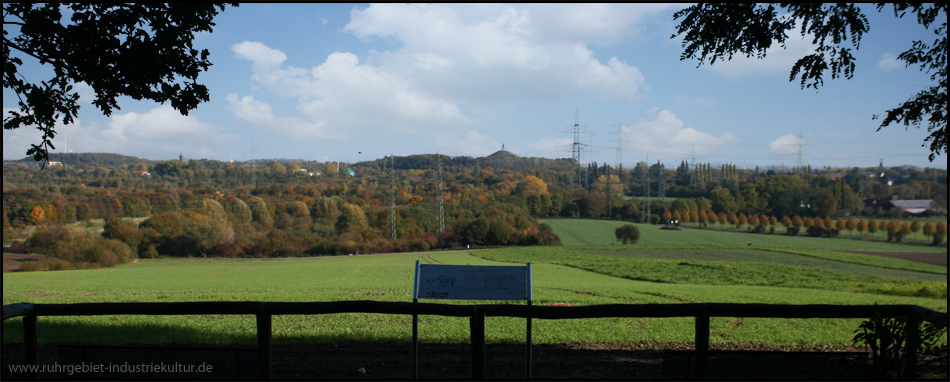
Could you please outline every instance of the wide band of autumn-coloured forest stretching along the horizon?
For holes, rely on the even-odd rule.
[[[537,220],[553,217],[732,224],[736,216],[737,226],[774,231],[777,222],[796,217],[883,221],[906,214],[888,198],[932,200],[931,215],[945,215],[947,203],[946,170],[904,167],[776,171],[683,161],[669,169],[645,162],[625,169],[435,154],[359,163],[117,154],[50,154],[50,160],[45,168],[32,160],[3,166],[4,244],[47,254],[36,269],[136,257],[558,245]],[[97,219],[106,222],[101,235],[82,228]]]

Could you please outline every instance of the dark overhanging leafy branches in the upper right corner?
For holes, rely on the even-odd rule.
[[[876,5],[880,12],[886,3]],[[924,146],[930,142],[930,161],[947,153],[947,5],[945,3],[895,3],[894,16],[906,13],[916,16],[917,23],[933,32],[932,44],[914,41],[912,46],[897,56],[907,66],[919,66],[932,73],[931,84],[896,108],[886,111],[878,130],[892,124],[905,126],[927,125],[930,133]],[[814,51],[799,59],[791,68],[789,81],[800,77],[801,88],[818,89],[824,78],[852,78],[861,37],[870,29],[867,17],[859,5],[850,3],[701,3],[673,14],[680,20],[676,33],[683,36],[681,60],[698,59],[699,65],[707,60],[730,60],[734,55],[764,58],[773,44],[786,47],[788,32],[800,30],[802,37],[811,36]],[[872,119],[878,119],[878,115]]]

